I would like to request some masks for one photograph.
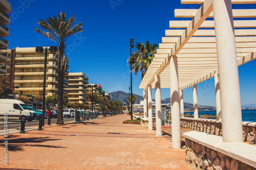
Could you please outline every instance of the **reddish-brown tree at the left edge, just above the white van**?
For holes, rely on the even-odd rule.
[[[8,94],[12,94],[13,89],[7,75],[0,75],[0,99],[5,99]]]

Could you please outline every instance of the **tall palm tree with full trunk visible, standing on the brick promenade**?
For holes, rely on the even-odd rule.
[[[79,22],[74,25],[76,18],[73,15],[66,18],[65,12],[60,12],[58,17],[48,17],[46,20],[39,19],[38,25],[42,29],[35,28],[35,32],[58,43],[58,116],[57,124],[63,125],[63,77],[66,71],[67,55],[65,41],[68,37],[82,32],[83,23]],[[43,31],[45,30],[45,31]]]

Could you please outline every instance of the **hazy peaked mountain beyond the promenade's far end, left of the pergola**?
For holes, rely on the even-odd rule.
[[[137,94],[133,94],[136,96],[136,101],[134,104],[139,104],[140,101],[143,101],[143,97]],[[124,91],[114,91],[110,93],[110,99],[114,101],[120,100],[124,105],[127,105],[125,101],[128,101],[129,93],[126,93]]]

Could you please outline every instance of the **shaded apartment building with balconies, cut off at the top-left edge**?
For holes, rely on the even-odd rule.
[[[6,0],[0,1],[0,74],[7,72],[7,53],[8,40],[4,37],[9,37],[11,4]]]

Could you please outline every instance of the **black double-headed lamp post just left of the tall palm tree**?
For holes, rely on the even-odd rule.
[[[42,53],[45,51],[45,68],[44,68],[44,87],[43,87],[43,90],[42,90],[42,126],[45,126],[45,102],[46,102],[46,65],[47,65],[47,51],[50,51],[50,52],[57,52],[57,46],[50,46],[50,48],[48,47],[41,47],[41,46],[37,46],[35,47],[35,51],[37,53]],[[39,123],[39,129],[38,130],[41,130],[40,128],[40,123]]]

